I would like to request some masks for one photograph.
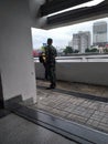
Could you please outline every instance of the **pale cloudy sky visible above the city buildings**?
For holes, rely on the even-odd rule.
[[[108,22],[108,18],[56,28],[52,30],[42,30],[32,28],[31,31],[32,31],[33,49],[40,49],[43,43],[46,43],[47,38],[53,39],[54,47],[64,48],[65,45],[68,45],[68,42],[73,39],[73,33],[77,33],[78,31],[90,31],[93,33],[93,23],[96,21]]]

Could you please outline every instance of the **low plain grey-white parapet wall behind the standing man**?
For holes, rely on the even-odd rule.
[[[44,78],[44,68],[35,62],[36,78]],[[69,82],[82,82],[108,86],[108,63],[107,62],[57,62],[57,80]]]

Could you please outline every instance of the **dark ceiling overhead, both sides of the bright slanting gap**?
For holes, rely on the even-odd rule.
[[[83,21],[99,19],[108,17],[108,1],[93,6],[71,10],[67,12],[58,13],[56,16],[47,17],[53,12],[72,8],[91,0],[45,0],[45,3],[41,6],[41,17],[46,17],[46,27],[54,28],[60,25],[66,25],[71,23],[79,23]]]

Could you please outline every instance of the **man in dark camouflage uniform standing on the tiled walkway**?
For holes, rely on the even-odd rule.
[[[48,79],[51,82],[51,85],[47,89],[55,89],[56,86],[55,56],[57,55],[57,52],[56,52],[56,49],[52,45],[52,43],[53,43],[53,40],[51,38],[47,39],[45,56],[46,56],[46,69],[47,69]]]

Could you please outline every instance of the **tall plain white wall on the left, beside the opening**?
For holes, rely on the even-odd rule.
[[[32,58],[31,25],[28,0],[0,2],[0,73],[3,99],[19,94],[36,102],[36,84]]]

